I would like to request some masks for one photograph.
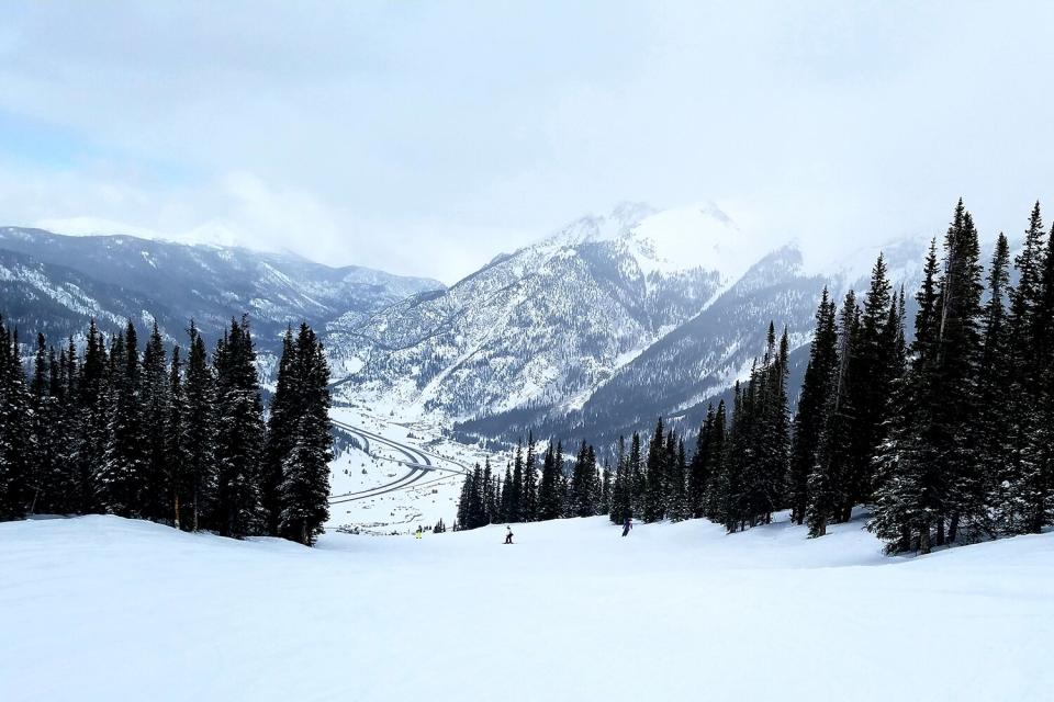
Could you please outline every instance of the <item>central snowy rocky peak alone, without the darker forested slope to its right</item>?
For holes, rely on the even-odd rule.
[[[580,219],[447,291],[335,321],[343,392],[455,419],[578,409],[736,280],[736,257],[720,253],[739,238],[716,207]]]

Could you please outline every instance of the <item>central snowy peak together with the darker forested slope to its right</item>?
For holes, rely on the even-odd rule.
[[[820,291],[862,288],[879,251],[817,263],[771,241],[711,203],[583,217],[446,291],[336,320],[341,393],[395,416],[438,414],[468,438],[535,428],[604,443],[658,415],[695,426],[747,375],[770,320],[804,370]],[[913,290],[923,242],[883,249],[894,282]]]

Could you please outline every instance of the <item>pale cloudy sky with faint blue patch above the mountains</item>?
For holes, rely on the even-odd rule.
[[[452,283],[624,201],[812,247],[938,234],[960,196],[1018,233],[1054,202],[1054,3],[0,13],[0,225]]]

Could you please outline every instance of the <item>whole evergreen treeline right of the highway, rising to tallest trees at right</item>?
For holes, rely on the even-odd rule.
[[[619,441],[613,472],[580,454],[575,473],[602,486],[593,513],[616,523],[705,517],[732,532],[787,509],[822,536],[865,506],[889,552],[1041,531],[1054,521],[1054,234],[1039,203],[1012,262],[1001,234],[987,273],[979,259],[960,201],[943,246],[930,246],[910,344],[905,291],[879,256],[862,299],[823,291],[793,420],[786,330],[777,341],[770,325],[731,411],[709,408],[691,461],[661,419],[647,455],[639,434],[628,450]],[[519,454],[504,484],[486,469],[472,476],[460,525],[588,511],[569,509],[567,487],[562,513],[542,509],[532,442],[523,465]],[[506,508],[509,494],[517,509]]]

